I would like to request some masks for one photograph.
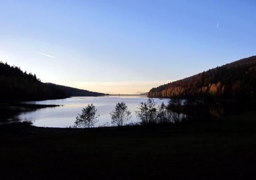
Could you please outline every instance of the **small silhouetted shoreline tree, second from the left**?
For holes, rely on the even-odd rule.
[[[132,118],[132,116],[127,105],[124,102],[118,102],[115,109],[110,112],[110,118],[112,124],[123,126],[125,122]]]

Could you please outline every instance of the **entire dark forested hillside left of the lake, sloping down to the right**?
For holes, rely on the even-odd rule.
[[[43,83],[36,74],[23,72],[17,66],[0,62],[0,100],[45,100],[99,95],[104,94]]]

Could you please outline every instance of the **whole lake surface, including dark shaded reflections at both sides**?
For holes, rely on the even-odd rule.
[[[130,122],[136,123],[138,119],[135,110],[137,110],[140,102],[146,101],[147,96],[100,96],[22,102],[23,105],[2,104],[0,105],[0,123],[30,121],[35,126],[65,128],[73,126],[74,120],[82,108],[87,104],[93,103],[98,109],[97,114],[100,114],[99,122],[95,126],[106,126],[106,124],[111,124],[109,113],[118,102],[126,103],[128,110],[132,112]],[[154,101],[157,102],[157,105],[160,105],[162,102],[167,105],[169,99],[154,98]],[[248,109],[245,108],[245,104],[247,103],[215,103],[182,100],[180,109],[174,108],[172,110],[178,112],[179,116],[182,116],[182,118],[185,117],[186,119],[210,119],[212,116],[219,117],[243,112],[245,109]]]

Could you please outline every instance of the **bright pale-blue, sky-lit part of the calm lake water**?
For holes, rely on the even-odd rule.
[[[168,99],[154,98],[158,105],[162,102],[167,104]],[[23,112],[18,115],[20,121],[31,121],[35,126],[46,127],[69,127],[74,125],[74,120],[82,108],[87,104],[93,103],[96,106],[97,114],[100,114],[99,122],[96,126],[103,126],[108,122],[111,125],[110,111],[118,102],[125,102],[128,109],[132,112],[130,122],[137,122],[134,110],[140,102],[147,101],[146,96],[100,96],[100,97],[73,97],[61,100],[44,100],[26,102],[29,104],[56,104],[63,105],[54,108],[42,108],[33,112]]]

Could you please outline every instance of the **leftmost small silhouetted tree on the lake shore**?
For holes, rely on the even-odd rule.
[[[88,104],[82,109],[82,113],[78,113],[75,120],[75,128],[92,128],[99,121],[98,116],[96,116],[97,109],[93,104]]]

